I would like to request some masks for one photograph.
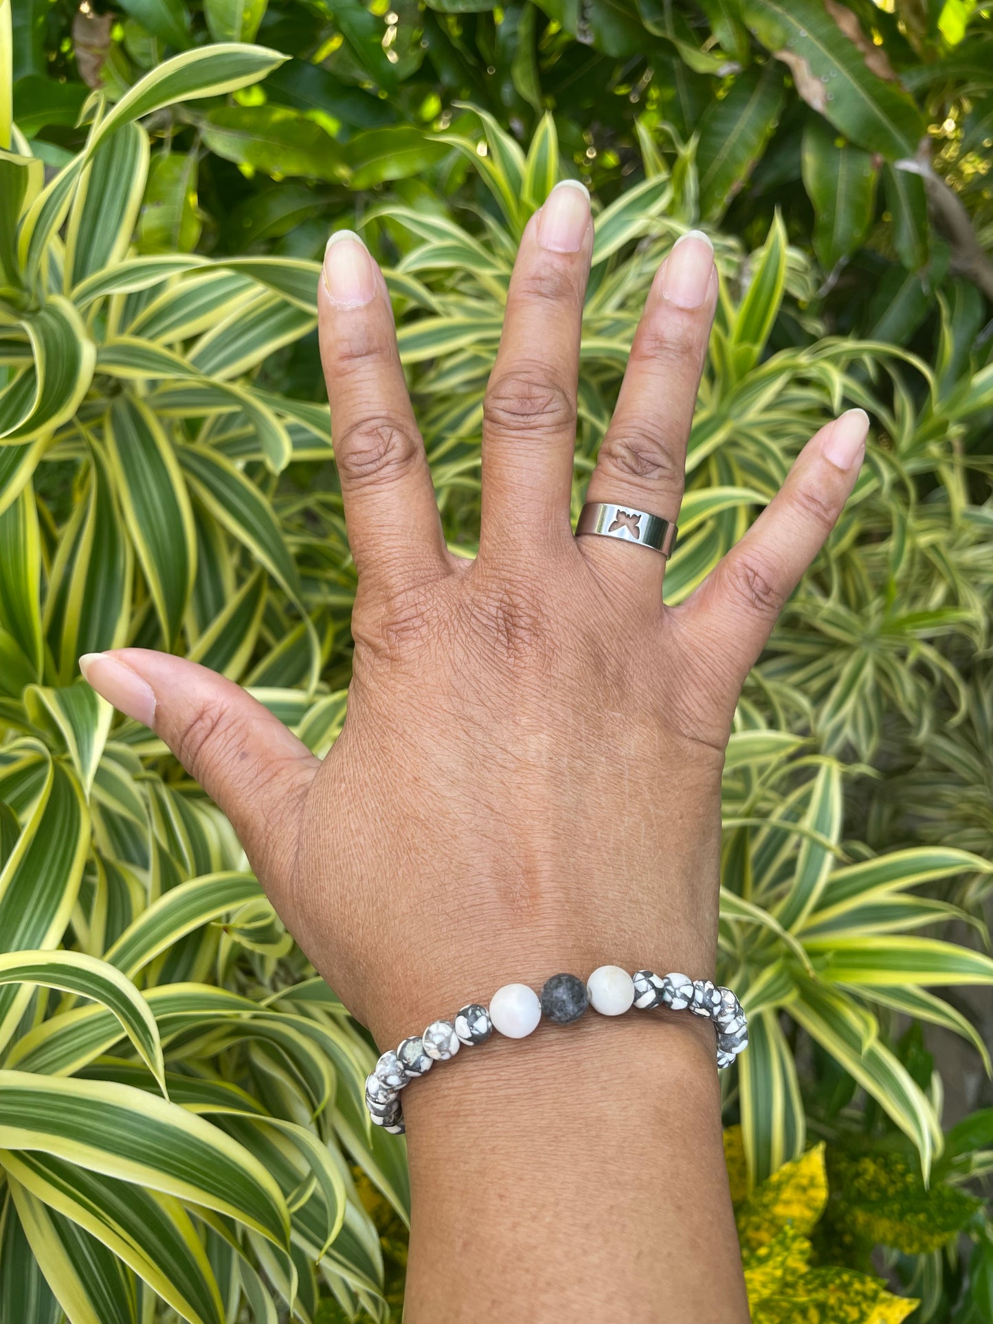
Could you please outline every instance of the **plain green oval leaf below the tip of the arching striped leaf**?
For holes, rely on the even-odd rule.
[[[327,130],[286,106],[218,106],[201,132],[212,152],[269,175],[336,181],[348,175],[346,154]]]

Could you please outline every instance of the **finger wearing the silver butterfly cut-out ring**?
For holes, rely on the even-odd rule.
[[[632,344],[588,502],[609,502],[675,522],[707,340],[718,302],[714,248],[702,230],[677,240],[658,269]],[[610,583],[658,600],[665,557],[612,538],[581,538]]]

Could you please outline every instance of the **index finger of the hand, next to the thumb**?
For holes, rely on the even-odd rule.
[[[387,589],[449,568],[424,442],[406,393],[383,274],[357,234],[324,253],[318,330],[348,542]]]

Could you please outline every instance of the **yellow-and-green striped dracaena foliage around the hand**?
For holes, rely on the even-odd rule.
[[[3,1247],[23,1299],[54,1292],[53,1316],[73,1324],[136,1321],[155,1301],[193,1324],[238,1309],[274,1320],[274,1303],[290,1300],[308,1321],[323,1299],[384,1319],[380,1247],[352,1165],[406,1214],[402,1147],[371,1133],[361,1111],[367,1038],[282,931],[218,812],[162,744],[75,683],[86,650],[181,649],[250,685],[316,752],[343,722],[354,576],[327,409],[274,389],[281,348],[314,324],[318,267],[132,248],[155,134],[138,120],[179,98],[220,98],[277,58],[208,46],[113,107],[94,98],[85,150],[48,184],[16,130],[0,155]],[[493,193],[477,222],[441,204],[365,220],[393,245],[388,279],[442,516],[451,544],[471,551],[482,387],[510,263],[561,167],[551,118],[527,155],[490,120],[485,155],[474,139],[444,146]],[[596,220],[577,496],[634,308],[690,218],[691,148],[678,179],[647,150],[645,164],[643,183]],[[878,1013],[969,1033],[937,998],[902,986],[988,980],[989,963],[900,935],[951,915],[911,888],[985,866],[953,850],[873,857],[842,838],[841,767],[824,751],[858,745],[865,723],[818,715],[846,665],[828,608],[861,610],[892,565],[876,551],[895,542],[891,526],[919,556],[945,527],[968,543],[940,420],[972,417],[985,388],[977,396],[969,379],[945,400],[918,360],[818,339],[804,308],[810,269],[779,221],[756,253],[715,242],[726,294],[669,592],[685,594],[715,564],[779,486],[796,437],[842,397],[896,444],[801,591],[797,638],[777,637],[732,739],[722,961],[756,1030],[728,1110],[743,1119],[752,1182],[802,1149],[782,1012],[888,1108],[927,1168],[933,1104],[907,1084]],[[804,326],[804,348],[771,351],[780,318]],[[910,518],[916,474],[948,494],[927,512],[927,538]],[[929,588],[931,610],[981,596],[956,564],[959,580],[947,571]],[[919,621],[915,657],[920,634],[964,624]],[[880,674],[908,655],[895,643]],[[924,702],[920,678],[906,685]],[[816,776],[804,753],[824,760]],[[888,982],[866,969],[866,944],[886,943]]]

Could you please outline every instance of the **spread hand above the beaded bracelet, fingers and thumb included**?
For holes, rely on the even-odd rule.
[[[865,451],[862,410],[822,428],[745,538],[663,608],[661,555],[569,524],[592,242],[569,184],[522,240],[486,399],[474,561],[445,547],[383,277],[356,237],[328,245],[320,344],[359,592],[347,720],[323,763],[193,663],[136,649],[85,663],[224,809],[290,931],[383,1047],[511,981],[540,988],[608,963],[714,973],[735,703]],[[694,232],[654,281],[592,500],[677,519],[716,297]],[[418,1128],[426,1153],[429,1113],[453,1116],[445,1090],[494,1103],[511,1055],[511,1070],[540,1072],[542,1037],[551,1062],[580,1031],[575,1043],[626,1042],[588,1016],[540,1027],[531,1053],[487,1045],[408,1090],[414,1177]],[[675,1033],[694,1079],[704,1061],[714,1076],[712,1029],[683,1018]],[[700,1090],[712,1113],[714,1087]],[[719,1140],[719,1106],[716,1119]]]

